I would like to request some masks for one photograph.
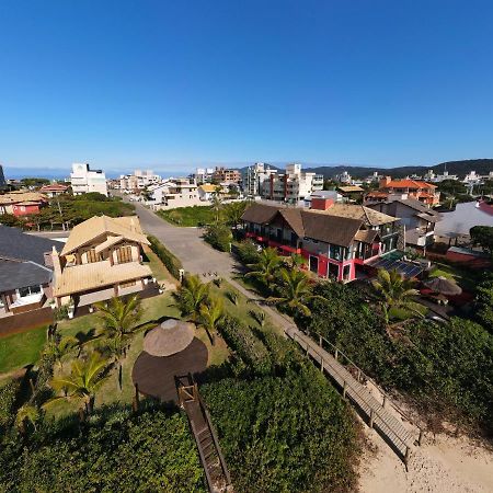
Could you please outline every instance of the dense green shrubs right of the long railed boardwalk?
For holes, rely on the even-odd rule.
[[[417,320],[389,336],[371,294],[323,283],[307,329],[336,344],[386,388],[399,389],[428,417],[493,422],[493,336],[463,319]],[[307,320],[303,319],[303,323]]]

